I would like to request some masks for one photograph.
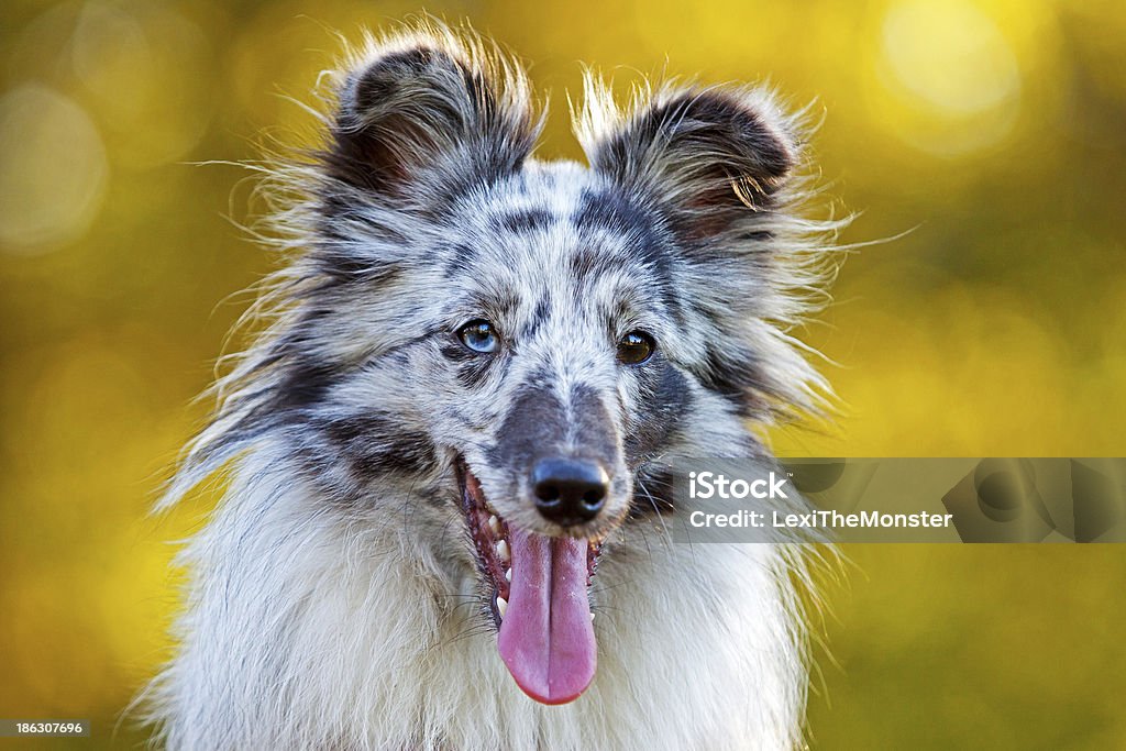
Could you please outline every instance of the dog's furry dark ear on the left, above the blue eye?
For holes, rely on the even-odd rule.
[[[339,92],[328,176],[393,203],[454,195],[517,170],[539,131],[521,71],[432,30],[370,45]]]

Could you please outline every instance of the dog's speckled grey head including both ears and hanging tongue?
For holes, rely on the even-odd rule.
[[[338,502],[456,517],[467,544],[417,544],[464,548],[501,656],[549,704],[593,676],[590,579],[668,508],[668,462],[758,452],[745,421],[815,378],[776,328],[802,280],[777,253],[795,144],[769,99],[588,97],[590,167],[545,164],[511,66],[440,35],[359,61],[236,426],[279,427]]]

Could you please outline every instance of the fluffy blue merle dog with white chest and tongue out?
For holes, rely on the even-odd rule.
[[[322,147],[260,168],[286,261],[159,503],[225,483],[158,742],[799,748],[808,548],[669,526],[674,461],[768,461],[828,399],[801,117],[588,73],[589,163],[540,161],[520,65],[436,21],[330,80]]]

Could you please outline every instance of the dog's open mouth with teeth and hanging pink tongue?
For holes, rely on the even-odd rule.
[[[597,665],[588,591],[599,543],[513,527],[489,506],[464,462],[457,475],[477,565],[493,589],[501,659],[537,701],[573,701],[590,686]]]

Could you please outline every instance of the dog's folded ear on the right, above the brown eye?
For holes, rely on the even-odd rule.
[[[775,206],[797,159],[789,129],[761,90],[664,90],[623,116],[588,81],[579,137],[596,171],[713,235]]]

